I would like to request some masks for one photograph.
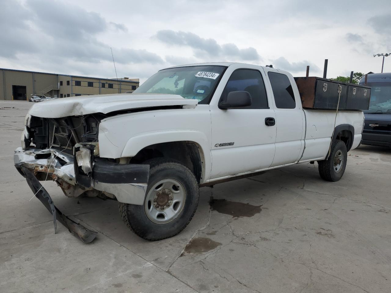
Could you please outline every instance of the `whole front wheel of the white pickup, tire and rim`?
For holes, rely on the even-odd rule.
[[[198,206],[199,188],[185,165],[163,158],[151,159],[143,205],[119,203],[124,223],[146,240],[175,236],[188,225]]]

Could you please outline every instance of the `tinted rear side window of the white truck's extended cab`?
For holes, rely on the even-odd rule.
[[[273,89],[276,107],[280,109],[294,109],[296,102],[291,82],[285,74],[269,72],[267,74]]]

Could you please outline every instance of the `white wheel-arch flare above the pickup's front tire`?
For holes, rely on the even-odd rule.
[[[204,174],[202,177],[204,180],[209,178],[210,166],[212,164],[210,147],[206,135],[197,130],[165,130],[133,136],[127,141],[121,157],[134,157],[145,147],[157,143],[168,143],[173,141],[191,141],[198,146],[201,161],[203,162]]]

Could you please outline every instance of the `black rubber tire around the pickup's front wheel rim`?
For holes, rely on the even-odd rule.
[[[119,203],[118,208],[124,223],[137,236],[156,241],[170,238],[181,232],[192,220],[198,206],[199,188],[194,174],[185,165],[169,159],[155,158],[144,162],[149,164],[149,182],[147,193],[160,180],[169,178],[180,182],[185,190],[184,205],[178,216],[169,223],[152,222],[143,205]]]

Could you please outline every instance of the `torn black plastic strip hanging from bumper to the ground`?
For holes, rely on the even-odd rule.
[[[49,193],[42,187],[39,180],[34,174],[27,168],[22,166],[22,171],[26,175],[27,184],[29,184],[32,192],[35,196],[45,205],[45,207],[53,214],[54,233],[57,230],[56,221],[58,220],[61,224],[68,228],[69,232],[76,238],[79,238],[84,243],[90,243],[97,236],[97,232],[93,232],[83,225],[76,223],[71,220],[65,214],[61,213],[59,209],[54,205],[52,198]]]

